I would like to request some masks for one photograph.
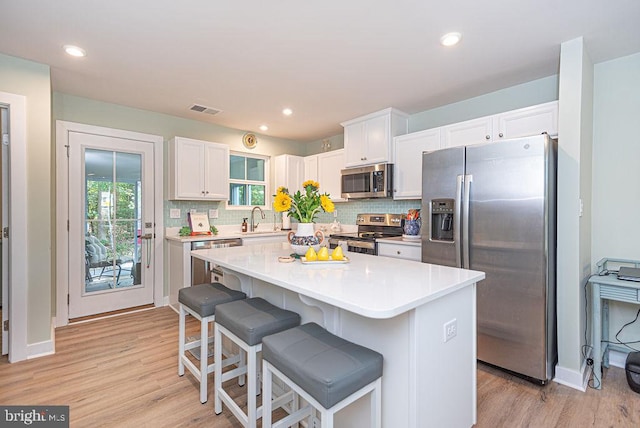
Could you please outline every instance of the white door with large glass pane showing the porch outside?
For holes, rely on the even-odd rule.
[[[69,133],[69,318],[153,303],[153,144]]]

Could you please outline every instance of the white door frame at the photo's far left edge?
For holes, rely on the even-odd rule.
[[[9,108],[9,361],[27,354],[27,102],[0,92]],[[16,286],[12,286],[16,284]],[[4,310],[4,308],[3,308]],[[1,327],[0,327],[1,328]]]

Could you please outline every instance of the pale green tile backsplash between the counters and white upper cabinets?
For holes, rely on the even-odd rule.
[[[336,202],[337,219],[341,224],[355,224],[356,215],[360,213],[400,213],[406,214],[412,208],[420,208],[420,200],[394,201],[390,198],[383,199],[359,199],[349,202]],[[180,218],[169,218],[171,209],[180,209]],[[214,225],[240,225],[242,219],[251,215],[251,210],[226,209],[225,202],[201,202],[201,201],[164,201],[165,227],[181,227],[187,225],[187,213],[195,209],[197,212],[208,212],[210,209],[218,210],[218,218],[210,219]],[[265,210],[264,222],[273,223],[274,211]],[[276,223],[280,222],[280,213],[276,214]],[[333,213],[321,212],[318,214],[317,223],[333,222]]]

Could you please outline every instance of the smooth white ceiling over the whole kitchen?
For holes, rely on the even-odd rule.
[[[595,63],[640,52],[638,0],[0,0],[0,18],[0,52],[50,65],[54,91],[302,142],[557,74],[576,37]]]

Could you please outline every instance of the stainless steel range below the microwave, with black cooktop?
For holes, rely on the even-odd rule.
[[[358,214],[358,231],[331,234],[329,248],[346,245],[352,253],[377,255],[377,239],[402,236],[403,218],[404,214]]]

